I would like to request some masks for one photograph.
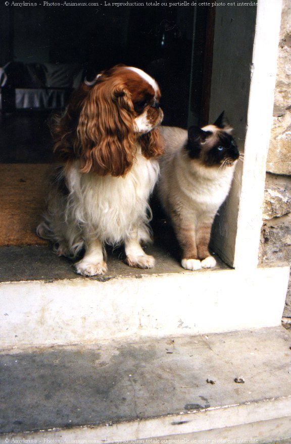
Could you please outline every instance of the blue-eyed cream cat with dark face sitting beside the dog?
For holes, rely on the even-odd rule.
[[[212,268],[208,245],[214,217],[228,195],[239,152],[224,112],[200,129],[161,127],[158,198],[169,216],[187,270]]]

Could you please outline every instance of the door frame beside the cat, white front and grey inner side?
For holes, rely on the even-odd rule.
[[[282,0],[216,8],[210,121],[225,110],[245,162],[237,164],[212,246],[234,268],[258,265],[281,11]]]

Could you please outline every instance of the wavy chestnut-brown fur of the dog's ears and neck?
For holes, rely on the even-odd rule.
[[[103,73],[92,86],[82,84],[73,94],[63,116],[55,118],[52,134],[58,160],[80,159],[82,173],[125,176],[136,152],[131,94],[122,75]],[[159,130],[139,136],[144,157],[158,157],[164,147]]]

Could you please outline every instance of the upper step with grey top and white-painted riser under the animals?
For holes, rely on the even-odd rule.
[[[153,270],[116,254],[97,278],[45,247],[0,249],[1,349],[280,325],[288,267],[187,271],[157,247]]]

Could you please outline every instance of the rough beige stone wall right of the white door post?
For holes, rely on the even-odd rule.
[[[291,264],[291,4],[283,0],[260,261]],[[291,317],[291,279],[284,316]]]

